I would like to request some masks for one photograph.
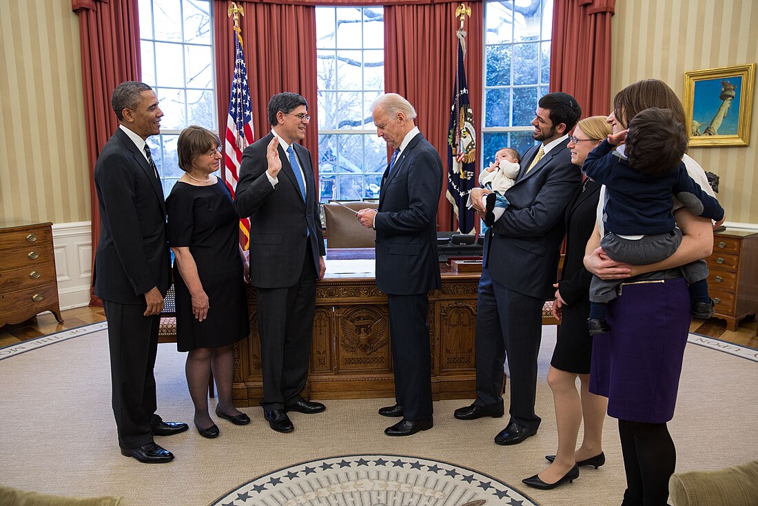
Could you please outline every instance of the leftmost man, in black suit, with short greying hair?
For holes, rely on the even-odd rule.
[[[152,88],[135,81],[119,84],[111,105],[121,126],[95,165],[101,226],[93,281],[108,320],[118,444],[140,462],[169,462],[174,454],[153,436],[177,434],[187,425],[155,414],[152,370],[171,261],[166,203],[145,140],[161,133],[163,112]]]

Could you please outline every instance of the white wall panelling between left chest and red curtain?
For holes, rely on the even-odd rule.
[[[91,222],[52,225],[52,243],[61,310],[88,305],[92,285]]]

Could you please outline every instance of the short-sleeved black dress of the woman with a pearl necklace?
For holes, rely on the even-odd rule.
[[[243,264],[239,251],[239,218],[232,197],[219,178],[199,187],[181,181],[166,199],[168,242],[189,247],[205,294],[208,317],[199,322],[192,296],[174,262],[177,300],[177,349],[221,347],[246,338],[250,332]]]

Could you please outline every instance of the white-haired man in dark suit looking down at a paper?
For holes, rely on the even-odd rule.
[[[378,209],[362,209],[363,226],[374,228],[376,279],[387,294],[395,370],[396,404],[384,416],[402,416],[387,435],[412,435],[432,427],[428,291],[440,288],[437,203],[442,161],[415,127],[413,106],[396,93],[379,97],[372,118],[377,135],[395,148],[384,171]]]

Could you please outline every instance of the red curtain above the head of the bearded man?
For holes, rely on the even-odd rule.
[[[553,8],[550,91],[573,95],[582,116],[607,115],[615,0],[562,0]]]

